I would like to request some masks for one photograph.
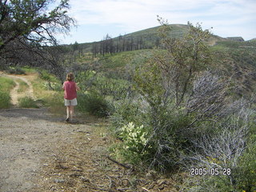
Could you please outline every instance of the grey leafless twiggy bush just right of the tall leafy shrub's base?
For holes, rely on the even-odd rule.
[[[193,82],[190,97],[186,101],[188,114],[196,113],[190,126],[203,119],[216,118],[224,110],[228,98],[229,82],[217,75],[204,71]],[[223,113],[222,113],[223,115]]]

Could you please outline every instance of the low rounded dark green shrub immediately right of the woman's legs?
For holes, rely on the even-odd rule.
[[[110,114],[110,105],[98,94],[78,94],[78,110],[106,117]]]

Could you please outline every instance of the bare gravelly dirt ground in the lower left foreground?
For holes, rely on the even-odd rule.
[[[70,125],[46,109],[0,110],[0,191],[36,191],[44,162],[89,125]],[[46,190],[47,191],[47,190]]]

